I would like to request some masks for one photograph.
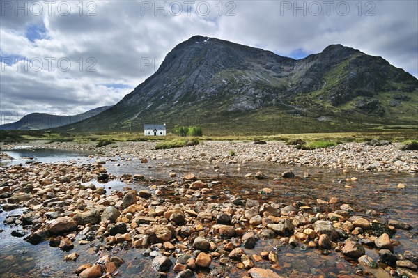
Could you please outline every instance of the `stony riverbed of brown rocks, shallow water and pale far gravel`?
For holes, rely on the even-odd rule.
[[[44,253],[25,268],[1,249],[2,277],[418,277],[417,152],[362,144],[307,152],[278,142],[153,146],[109,145],[84,164],[1,167],[1,229],[59,265],[41,263]],[[316,160],[305,163],[309,157]],[[157,178],[110,170],[133,162],[163,170]],[[337,170],[329,179],[300,165]],[[385,170],[405,173],[378,173]],[[47,270],[33,268],[34,260]]]

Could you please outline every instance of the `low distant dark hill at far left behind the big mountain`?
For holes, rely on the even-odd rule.
[[[4,125],[0,125],[0,130],[43,130],[47,128],[56,128],[62,125],[77,123],[79,121],[85,120],[86,118],[91,118],[101,113],[102,111],[109,109],[110,107],[111,106],[102,106],[88,110],[82,114],[72,116],[31,113],[27,114],[19,121],[14,123],[6,123]]]

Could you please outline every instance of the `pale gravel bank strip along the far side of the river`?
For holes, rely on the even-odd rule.
[[[324,167],[326,169],[357,169],[360,171],[418,171],[418,152],[399,150],[401,144],[368,146],[364,143],[344,143],[330,148],[298,150],[295,146],[280,141],[254,144],[252,141],[201,141],[197,146],[155,150],[155,141],[115,142],[96,147],[97,142],[31,141],[40,148],[65,150],[90,150],[102,157],[126,156],[138,159],[189,160],[217,164],[230,162],[271,162],[289,167]],[[24,146],[8,144],[2,149]]]

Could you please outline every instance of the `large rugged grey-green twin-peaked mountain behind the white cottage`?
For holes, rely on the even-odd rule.
[[[304,59],[194,36],[114,107],[71,131],[202,125],[209,133],[324,132],[418,125],[418,80],[382,57],[330,45]],[[208,134],[208,132],[206,132]]]

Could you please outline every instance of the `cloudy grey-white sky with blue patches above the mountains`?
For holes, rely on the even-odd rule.
[[[114,105],[194,35],[299,59],[341,43],[418,75],[418,1],[0,1],[1,123]]]

